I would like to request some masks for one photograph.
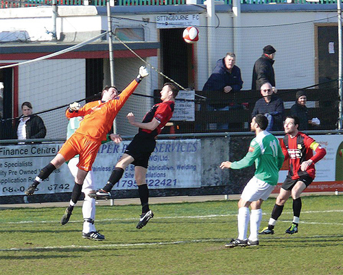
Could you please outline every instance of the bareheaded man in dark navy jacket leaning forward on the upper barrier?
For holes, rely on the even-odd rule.
[[[202,91],[222,91],[224,93],[236,93],[241,91],[243,81],[241,70],[235,65],[235,53],[226,53],[225,58],[217,61],[215,69],[204,84]],[[229,102],[210,103],[215,110],[222,110]],[[228,110],[228,108],[227,108]]]

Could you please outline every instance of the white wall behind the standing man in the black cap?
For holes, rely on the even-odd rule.
[[[241,68],[244,89],[251,88],[252,68],[262,55],[265,45],[273,45],[276,49],[274,71],[277,88],[313,85],[316,81],[314,23],[290,24],[314,21],[327,15],[317,12],[275,12],[268,16],[263,15],[265,14],[241,14],[244,27],[278,25],[240,29],[244,56],[237,63]]]

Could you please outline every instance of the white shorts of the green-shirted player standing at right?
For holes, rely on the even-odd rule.
[[[244,187],[241,198],[246,202],[255,202],[259,199],[267,200],[274,187],[274,185],[252,177]]]

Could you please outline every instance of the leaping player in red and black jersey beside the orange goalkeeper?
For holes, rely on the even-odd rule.
[[[119,182],[126,167],[130,164],[134,165],[134,178],[137,182],[142,205],[142,214],[137,229],[143,228],[154,217],[154,213],[152,213],[148,204],[149,189],[147,188],[145,174],[150,155],[155,149],[156,136],[161,133],[162,128],[173,115],[176,95],[178,95],[178,87],[169,82],[165,83],[161,91],[162,102],[152,106],[142,122],[135,121],[132,112],[128,113],[128,121],[131,125],[139,127],[139,132],[134,136],[123,156],[115,165],[115,169],[104,188],[88,194],[88,196],[95,199],[110,198],[111,189]]]

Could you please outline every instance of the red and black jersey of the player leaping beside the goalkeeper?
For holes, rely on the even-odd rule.
[[[148,134],[151,134],[154,137],[160,134],[163,127],[165,127],[165,124],[173,116],[174,105],[174,101],[165,101],[152,106],[152,108],[145,114],[145,117],[143,118],[142,122],[147,123],[155,118],[160,123],[158,124],[155,130],[139,128],[139,132],[147,132]]]

